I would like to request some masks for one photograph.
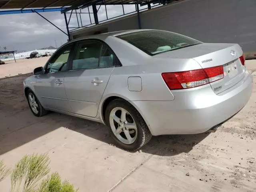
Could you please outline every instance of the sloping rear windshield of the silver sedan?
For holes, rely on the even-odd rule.
[[[161,31],[146,30],[116,36],[136,46],[149,55],[181,49],[200,44],[201,42],[180,34]]]

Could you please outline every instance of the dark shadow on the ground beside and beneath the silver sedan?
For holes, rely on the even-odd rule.
[[[106,126],[101,123],[56,112],[40,118],[34,116],[22,88],[24,78],[30,75],[0,79],[0,155],[61,127],[117,146]],[[209,133],[154,136],[141,150],[159,156],[187,153],[208,135]]]

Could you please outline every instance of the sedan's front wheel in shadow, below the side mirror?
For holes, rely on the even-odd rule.
[[[39,100],[36,98],[36,95],[32,90],[28,90],[26,93],[26,98],[28,100],[28,106],[32,113],[37,116],[41,117],[48,114],[48,110],[45,110],[43,106],[40,104]]]

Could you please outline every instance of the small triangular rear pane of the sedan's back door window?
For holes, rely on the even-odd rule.
[[[102,45],[100,53],[100,67],[114,66],[114,54],[106,45]]]

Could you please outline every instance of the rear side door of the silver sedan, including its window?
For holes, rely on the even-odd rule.
[[[78,42],[64,81],[74,113],[96,117],[102,94],[116,64],[116,56],[103,42]]]

